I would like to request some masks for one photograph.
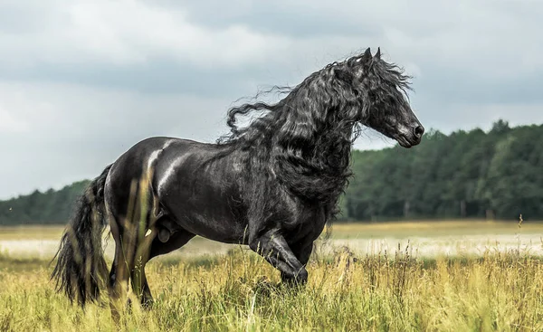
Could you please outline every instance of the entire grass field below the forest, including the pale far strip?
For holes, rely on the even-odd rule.
[[[336,224],[298,292],[275,286],[279,273],[251,251],[195,239],[148,263],[156,303],[132,305],[119,327],[107,298],[83,311],[54,293],[49,251],[5,244],[61,233],[0,229],[0,331],[543,330],[541,223]],[[459,242],[471,244],[453,255],[421,250]]]

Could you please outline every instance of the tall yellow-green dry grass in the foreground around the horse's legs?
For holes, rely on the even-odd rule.
[[[424,260],[410,250],[317,251],[305,289],[283,289],[252,252],[148,264],[155,305],[116,326],[107,299],[85,311],[53,292],[46,261],[0,260],[0,331],[543,330],[543,267],[520,251]],[[104,293],[104,294],[107,294]]]

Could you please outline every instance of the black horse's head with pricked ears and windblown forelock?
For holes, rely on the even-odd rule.
[[[374,56],[369,48],[364,54],[343,62],[338,68],[342,81],[348,82],[357,96],[356,119],[402,147],[421,142],[424,127],[414,115],[406,98],[408,76],[394,64],[381,59],[380,49]]]

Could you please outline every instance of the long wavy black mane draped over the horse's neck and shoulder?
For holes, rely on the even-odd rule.
[[[357,77],[362,81],[354,84]],[[279,88],[287,95],[277,103],[257,101],[229,109],[230,133],[217,143],[248,151],[242,184],[256,202],[251,210],[268,210],[254,205],[274,196],[267,182],[276,178],[300,199],[328,206],[329,217],[334,217],[351,175],[350,150],[361,123],[370,112],[373,118],[380,116],[370,100],[398,99],[409,89],[408,80],[395,64],[363,54],[330,63],[294,88]],[[384,81],[389,92],[377,89]],[[247,116],[253,117],[251,124],[240,128],[238,117]]]

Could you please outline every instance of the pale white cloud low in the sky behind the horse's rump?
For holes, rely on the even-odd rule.
[[[8,130],[0,128],[0,199],[93,177],[140,139],[212,142],[225,131],[228,106],[227,100],[190,95],[5,81],[0,100],[0,124],[14,119],[4,123]],[[12,127],[17,121],[24,124]]]

